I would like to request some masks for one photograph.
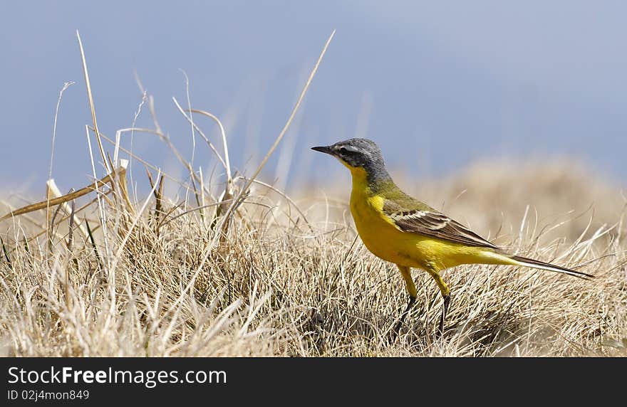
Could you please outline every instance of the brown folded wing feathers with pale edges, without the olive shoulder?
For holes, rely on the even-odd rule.
[[[418,233],[453,243],[462,243],[463,245],[499,248],[461,223],[437,211],[402,211],[388,213],[388,216],[404,232]]]

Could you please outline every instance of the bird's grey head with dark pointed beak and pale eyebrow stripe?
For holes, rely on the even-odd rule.
[[[311,147],[311,149],[336,157],[353,174],[359,170],[366,171],[369,177],[387,174],[381,150],[375,142],[369,139],[348,139],[330,146]]]

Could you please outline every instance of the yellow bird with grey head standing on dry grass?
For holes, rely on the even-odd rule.
[[[450,287],[442,270],[462,264],[515,265],[564,273],[586,280],[594,275],[507,253],[444,213],[405,194],[390,176],[380,148],[370,139],[353,138],[328,146],[311,147],[338,159],[351,171],[350,208],[366,248],[394,263],[405,280],[407,307],[393,328],[393,337],[413,307],[417,290],[411,269],[425,270],[443,298],[438,334],[444,331],[450,305]]]

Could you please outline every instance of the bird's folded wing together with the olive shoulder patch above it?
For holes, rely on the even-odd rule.
[[[418,233],[463,245],[498,249],[477,233],[410,196],[385,201],[383,213],[403,232]]]

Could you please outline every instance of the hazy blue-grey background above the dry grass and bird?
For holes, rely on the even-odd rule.
[[[142,102],[136,73],[163,131],[190,159],[190,125],[172,101],[187,107],[186,73],[192,107],[221,118],[234,169],[249,173],[336,29],[262,174],[279,188],[348,181],[346,169],[309,147],[349,137],[375,140],[392,169],[418,179],[482,160],[567,157],[625,184],[626,14],[621,1],[5,2],[1,189],[43,196],[67,81],[76,84],[61,101],[53,177],[63,191],[89,179],[77,29],[101,132],[114,137],[133,124]],[[195,120],[220,144],[213,122]],[[146,104],[135,125],[154,127]],[[123,145],[130,143],[127,134]],[[219,179],[223,170],[196,144],[195,168]],[[154,135],[135,134],[132,148],[185,177]],[[144,170],[133,171],[145,188]]]

